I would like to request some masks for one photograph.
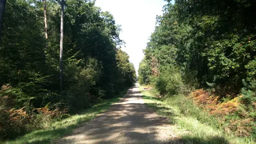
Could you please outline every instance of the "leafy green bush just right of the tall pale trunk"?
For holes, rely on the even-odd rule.
[[[98,93],[90,90],[99,80],[101,65],[95,58],[89,58],[85,65],[80,67],[76,62],[71,62],[66,69],[65,83],[68,84],[68,90],[63,95],[70,112],[90,107],[99,97]],[[98,90],[94,88],[93,91]]]

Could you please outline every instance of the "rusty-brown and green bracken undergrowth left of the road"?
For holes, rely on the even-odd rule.
[[[34,108],[32,101],[27,98],[29,97],[18,88],[12,88],[10,85],[1,86],[0,139],[13,139],[32,130],[49,127],[55,117],[62,117],[66,113],[60,109],[51,111],[48,105]],[[56,108],[54,105],[51,107]]]

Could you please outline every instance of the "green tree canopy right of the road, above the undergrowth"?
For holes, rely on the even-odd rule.
[[[256,21],[250,16],[255,5],[248,0],[166,4],[144,51],[146,61],[157,61],[152,75],[153,68],[177,65],[188,85],[214,82],[222,91],[239,92],[242,79],[252,81],[256,76]]]

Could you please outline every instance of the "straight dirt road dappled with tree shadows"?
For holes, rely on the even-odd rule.
[[[136,84],[119,103],[57,144],[180,144],[169,123],[147,108]]]

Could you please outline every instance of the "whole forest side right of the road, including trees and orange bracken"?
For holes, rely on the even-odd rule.
[[[255,142],[256,1],[167,2],[144,50],[139,83],[154,86],[184,115]],[[217,121],[196,114],[190,101]]]

